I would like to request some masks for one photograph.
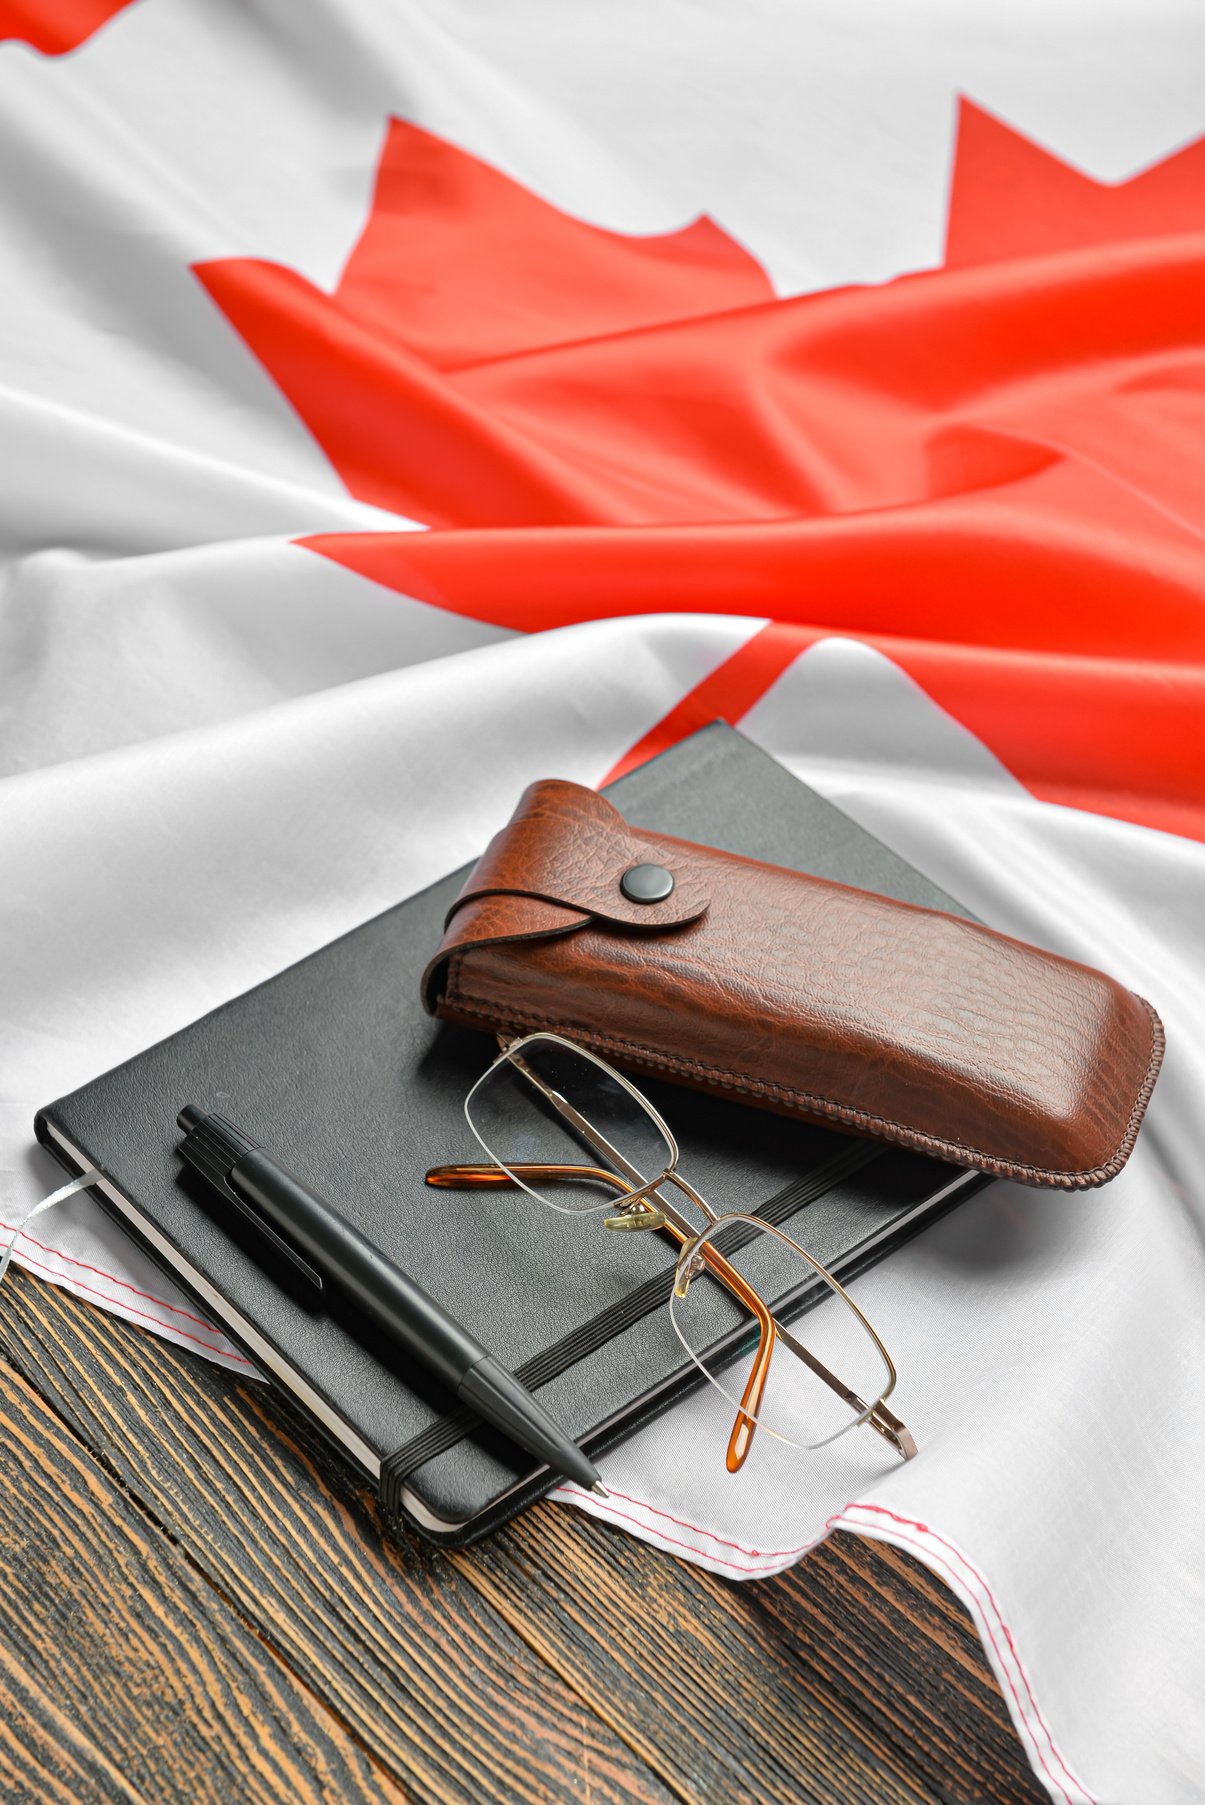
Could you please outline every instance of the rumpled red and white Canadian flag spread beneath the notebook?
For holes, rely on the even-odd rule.
[[[1062,1801],[1203,1771],[1133,1529],[1200,1569],[1203,67],[1176,0],[0,0],[7,1233],[40,1105],[727,717],[1169,1054],[1100,1197],[859,1280],[907,1473],[720,1493],[689,1404],[612,1520],[918,1552]],[[14,1258],[242,1359],[87,1193]]]

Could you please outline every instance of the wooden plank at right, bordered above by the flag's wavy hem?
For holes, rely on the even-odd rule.
[[[974,1624],[904,1558],[842,1536],[734,1585],[554,1505],[453,1558],[684,1798],[1044,1800]]]

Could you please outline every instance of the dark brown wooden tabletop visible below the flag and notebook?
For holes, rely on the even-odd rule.
[[[541,1505],[384,1540],[263,1386],[13,1271],[0,1796],[1044,1800],[961,1606],[833,1536],[729,1585]]]

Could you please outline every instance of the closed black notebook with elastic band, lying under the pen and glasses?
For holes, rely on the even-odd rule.
[[[722,722],[608,794],[635,827],[965,915]],[[590,1453],[705,1383],[669,1319],[675,1253],[662,1236],[608,1235],[597,1218],[557,1215],[518,1191],[424,1184],[428,1166],[482,1157],[464,1097],[494,1043],[429,1020],[419,1000],[464,877],[364,922],[36,1119],[69,1170],[99,1170],[94,1195],[292,1393],[386,1511],[447,1543],[503,1522],[556,1476],[428,1374],[400,1366],[330,1294],[290,1280],[256,1227],[180,1166],[175,1117],[198,1103],[278,1152]],[[985,1182],[900,1148],[640,1085],[678,1139],[682,1171],[716,1209],[761,1208],[837,1276]]]

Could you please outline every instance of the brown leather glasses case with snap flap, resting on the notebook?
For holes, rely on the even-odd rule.
[[[675,872],[666,902],[621,897],[639,857]],[[684,921],[698,897],[705,912]],[[1122,1168],[1164,1051],[1151,1005],[1100,971],[635,832],[563,782],[532,783],[494,838],[424,1000],[447,1020],[554,1027],[626,1067],[1064,1189]]]

